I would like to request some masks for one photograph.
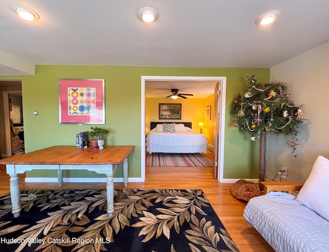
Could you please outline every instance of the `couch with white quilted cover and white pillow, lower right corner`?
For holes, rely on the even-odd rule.
[[[270,192],[243,215],[277,252],[329,251],[329,160],[318,156],[297,197]]]

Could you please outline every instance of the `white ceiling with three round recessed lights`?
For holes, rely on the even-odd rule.
[[[155,23],[137,17],[145,6]],[[271,10],[275,23],[255,25]],[[327,0],[0,1],[0,75],[33,74],[22,65],[270,68],[329,41],[328,13]]]

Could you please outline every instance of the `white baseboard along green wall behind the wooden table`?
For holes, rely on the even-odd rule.
[[[123,178],[114,178],[113,181],[123,182]],[[25,182],[31,183],[57,183],[58,178],[38,178],[38,177],[28,177],[25,178]],[[106,183],[106,178],[63,178],[63,182],[65,183]],[[128,182],[143,182],[141,178],[128,178]]]

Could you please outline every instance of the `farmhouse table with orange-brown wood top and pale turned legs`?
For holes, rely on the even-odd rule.
[[[134,146],[105,146],[103,150],[78,149],[76,146],[52,146],[39,151],[12,156],[0,160],[6,164],[10,176],[10,197],[12,214],[19,217],[21,212],[21,190],[18,174],[32,170],[57,170],[59,186],[63,184],[63,170],[88,170],[106,174],[107,213],[114,211],[113,174],[117,164],[123,163],[123,183],[128,184],[128,156]]]

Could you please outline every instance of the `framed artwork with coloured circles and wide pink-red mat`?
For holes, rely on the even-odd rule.
[[[105,124],[104,79],[59,79],[60,123]]]

